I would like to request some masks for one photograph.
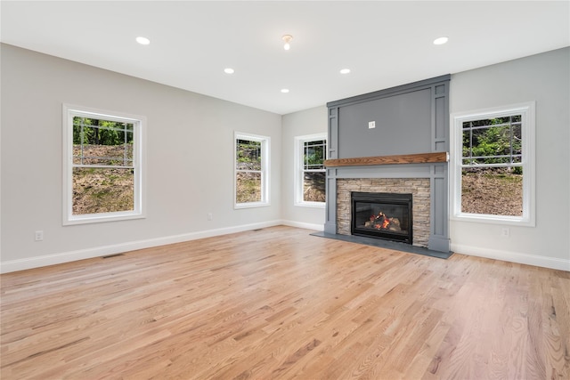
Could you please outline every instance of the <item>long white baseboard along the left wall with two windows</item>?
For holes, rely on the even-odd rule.
[[[134,251],[136,249],[165,246],[167,244],[181,243],[183,241],[211,238],[214,236],[227,235],[229,233],[273,227],[280,224],[284,223],[282,221],[259,222],[216,230],[189,232],[181,235],[173,235],[163,238],[130,241],[127,243],[113,244],[110,246],[85,248],[79,249],[77,251],[63,252],[60,254],[41,255],[36,257],[28,257],[26,259],[10,260],[0,263],[0,273],[24,271],[27,269],[39,268],[48,265],[92,259],[94,257],[101,257],[105,255],[122,254],[125,252]]]

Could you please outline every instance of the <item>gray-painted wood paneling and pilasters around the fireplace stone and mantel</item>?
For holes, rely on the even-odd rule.
[[[328,103],[328,158],[449,151],[450,77],[435,77]],[[371,121],[375,128],[369,128]],[[414,177],[430,178],[428,247],[449,251],[447,163],[327,168],[325,232],[337,233],[337,179]]]

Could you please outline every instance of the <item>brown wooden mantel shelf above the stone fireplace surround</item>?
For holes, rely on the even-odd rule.
[[[361,158],[338,158],[327,159],[324,166],[370,166],[370,165],[394,165],[394,164],[431,164],[437,162],[447,162],[449,155],[447,152],[402,154],[395,156],[376,156]]]

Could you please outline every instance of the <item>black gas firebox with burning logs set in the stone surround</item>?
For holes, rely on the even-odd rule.
[[[351,233],[412,244],[411,194],[351,192]]]

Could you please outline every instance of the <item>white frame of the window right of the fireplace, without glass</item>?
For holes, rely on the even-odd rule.
[[[523,214],[522,216],[469,214],[461,212],[461,165],[462,165],[462,126],[464,122],[493,117],[521,115],[523,167]],[[466,222],[485,222],[519,226],[535,226],[535,102],[512,104],[504,107],[458,112],[451,115],[451,202],[452,219]]]

